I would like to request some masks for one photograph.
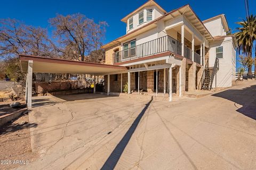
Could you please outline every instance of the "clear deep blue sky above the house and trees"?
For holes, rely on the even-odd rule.
[[[49,27],[48,20],[56,14],[82,13],[95,22],[106,21],[108,23],[106,38],[103,43],[108,43],[115,38],[125,34],[125,23],[121,19],[145,3],[147,0],[125,1],[89,1],[89,0],[12,0],[1,1],[0,18],[14,18],[28,25]],[[221,13],[226,14],[229,27],[233,30],[238,26],[235,22],[245,18],[244,0],[233,1],[177,1],[177,0],[155,0],[167,12],[185,4],[190,4],[201,20],[211,18]],[[120,3],[121,2],[121,3]],[[127,2],[127,1],[126,1]],[[4,5],[3,5],[4,4]],[[256,1],[249,0],[250,12],[256,14]],[[254,54],[253,54],[254,56]]]

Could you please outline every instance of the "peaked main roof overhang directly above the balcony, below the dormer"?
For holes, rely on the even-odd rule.
[[[114,46],[118,43],[121,43],[121,41],[123,41],[124,39],[131,38],[132,36],[135,36],[136,33],[139,34],[139,33],[144,32],[146,30],[157,27],[156,23],[159,20],[169,20],[169,19],[175,18],[179,15],[184,15],[189,21],[194,21],[194,22],[191,22],[191,24],[193,24],[194,27],[202,35],[204,35],[205,39],[207,39],[208,41],[213,41],[214,40],[211,33],[205,27],[204,23],[199,19],[199,17],[196,15],[196,13],[192,10],[190,5],[187,4],[187,5],[184,5],[184,6],[181,6],[181,7],[177,8],[176,10],[172,10],[172,11],[160,16],[159,18],[143,25],[142,27],[140,27],[138,29],[135,29],[135,30],[127,33],[124,36],[121,36],[121,37],[111,41],[108,44],[105,44],[105,45],[101,46],[101,48],[106,49],[108,47]]]

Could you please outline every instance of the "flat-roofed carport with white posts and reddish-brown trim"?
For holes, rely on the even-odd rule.
[[[106,73],[126,71],[124,66],[89,63],[72,60],[62,60],[59,58],[19,55],[21,69],[26,73],[26,104],[28,108],[32,107],[32,73],[61,73],[61,74],[92,74],[106,75]],[[108,74],[109,79],[109,74]],[[107,84],[107,92],[109,95],[109,81]],[[94,86],[94,93],[95,93]]]

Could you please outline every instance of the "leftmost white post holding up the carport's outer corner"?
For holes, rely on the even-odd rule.
[[[28,74],[27,74],[27,107],[32,107],[32,73],[33,73],[33,60],[28,61]]]

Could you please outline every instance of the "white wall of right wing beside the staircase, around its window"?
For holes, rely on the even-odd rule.
[[[225,40],[210,44],[209,50],[209,66],[213,67],[216,58],[216,47],[223,46],[223,58],[219,58],[220,69],[217,73],[217,87],[231,87],[232,81],[235,80],[236,60],[234,53],[234,44],[231,37]],[[213,80],[213,88],[215,88],[215,78]]]

